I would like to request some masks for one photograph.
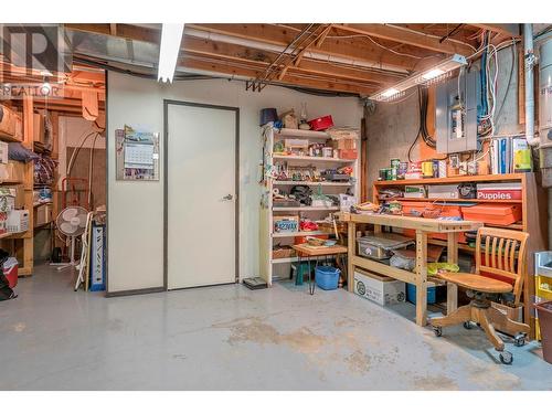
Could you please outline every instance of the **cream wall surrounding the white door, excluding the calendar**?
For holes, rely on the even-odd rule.
[[[336,125],[360,127],[362,117],[362,106],[357,98],[321,97],[276,86],[253,93],[245,91],[245,84],[237,81],[185,81],[163,85],[109,72],[107,84],[109,293],[163,284],[163,160],[160,181],[116,181],[115,129],[127,124],[159,131],[162,136],[163,99],[240,108],[240,277],[243,278],[258,273],[259,109],[276,107],[298,112],[305,102],[310,117],[331,114]]]

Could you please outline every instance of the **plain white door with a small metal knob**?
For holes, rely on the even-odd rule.
[[[235,108],[168,104],[167,285],[236,278]]]

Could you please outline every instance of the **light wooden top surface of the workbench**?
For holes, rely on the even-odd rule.
[[[353,214],[339,213],[339,221],[354,222],[375,225],[389,225],[393,227],[421,230],[424,232],[435,233],[456,233],[477,230],[482,226],[482,223],[473,221],[448,221],[437,219],[412,217],[407,215],[392,214]]]

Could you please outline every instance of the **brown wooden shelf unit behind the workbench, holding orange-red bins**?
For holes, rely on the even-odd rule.
[[[458,200],[439,200],[450,202],[469,202],[469,203],[509,203],[521,204],[522,220],[521,222],[509,225],[497,225],[485,223],[489,227],[500,227],[523,231],[530,234],[527,247],[527,270],[523,282],[523,302],[531,304],[531,298],[534,296],[534,253],[545,251],[548,248],[548,195],[545,190],[540,185],[541,177],[535,172],[528,173],[510,173],[510,174],[489,174],[489,176],[458,176],[447,178],[431,178],[420,180],[392,180],[392,181],[374,181],[373,183],[373,200],[380,202],[380,189],[384,188],[402,188],[404,185],[424,185],[424,184],[456,184],[465,182],[519,182],[521,183],[521,200],[478,200],[478,199],[458,199]],[[407,201],[431,202],[435,199],[400,199]],[[446,245],[446,242],[432,238],[431,243],[437,245]],[[475,250],[465,243],[458,244],[458,250],[464,253],[474,254]],[[532,335],[534,336],[534,316],[529,306],[523,307],[524,320],[531,325]]]

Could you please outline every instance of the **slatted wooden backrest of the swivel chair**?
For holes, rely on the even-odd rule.
[[[526,244],[529,234],[516,230],[479,227],[476,242],[476,273],[491,273],[513,285],[516,305],[521,297],[526,270]],[[485,244],[485,246],[481,246]],[[485,255],[485,264],[481,258]]]

